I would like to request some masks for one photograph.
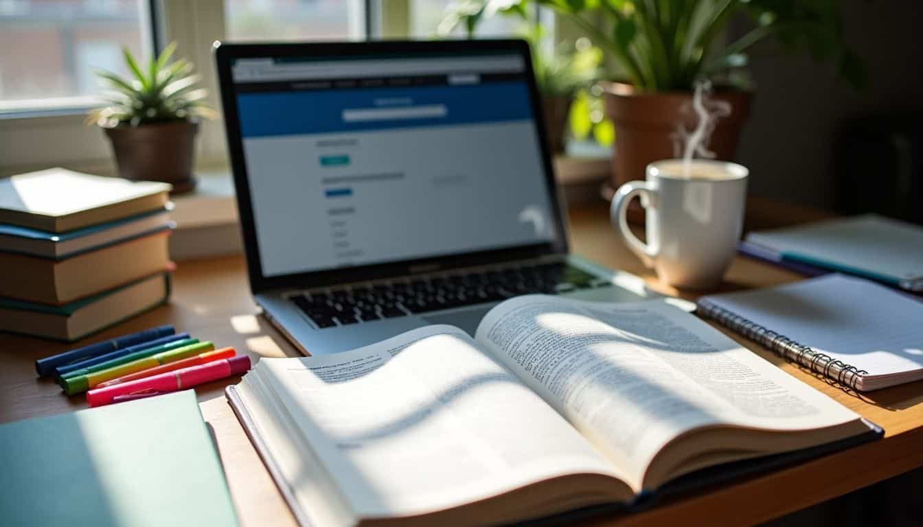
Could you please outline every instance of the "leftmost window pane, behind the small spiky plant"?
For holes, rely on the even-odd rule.
[[[150,53],[148,8],[147,0],[0,0],[0,110],[88,105],[94,69],[123,72],[123,46]]]

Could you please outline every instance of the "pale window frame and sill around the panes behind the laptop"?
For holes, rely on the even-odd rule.
[[[176,54],[196,65],[202,87],[209,90],[206,102],[220,110],[218,80],[211,56],[212,43],[224,40],[224,0],[139,0],[142,34],[151,49],[177,42]],[[345,0],[351,9],[362,7],[364,16],[351,23],[354,38],[407,38],[411,27],[411,0]],[[557,32],[557,24],[556,24]],[[557,40],[557,39],[556,39]],[[79,99],[79,100],[78,100]],[[109,141],[102,130],[86,126],[87,111],[96,104],[91,97],[62,98],[62,105],[0,114],[0,176],[50,165],[74,170],[115,174]],[[197,140],[197,171],[230,166],[222,118],[203,123]]]

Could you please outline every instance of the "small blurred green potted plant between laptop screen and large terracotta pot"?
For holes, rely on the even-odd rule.
[[[495,7],[489,2],[477,1],[456,5],[439,24],[438,34],[445,37],[463,26],[467,37],[472,39],[478,22],[491,16]],[[511,4],[509,12],[528,19],[525,10],[516,7],[516,4]],[[500,7],[500,10],[504,8]],[[553,50],[547,51],[540,45],[544,34],[545,29],[537,22],[525,25],[520,30],[520,36],[532,48],[535,85],[542,98],[548,147],[553,152],[561,152],[564,150],[564,131],[574,94],[598,78],[603,54],[587,39],[561,42]]]

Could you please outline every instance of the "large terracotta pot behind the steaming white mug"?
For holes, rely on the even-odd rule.
[[[650,162],[681,157],[675,151],[673,134],[683,123],[693,128],[697,119],[690,108],[691,92],[647,93],[621,82],[603,83],[605,114],[616,128],[616,146],[612,154],[612,177],[609,184],[616,189],[624,183],[644,179],[644,168]],[[710,97],[731,104],[731,114],[718,119],[708,143],[716,159],[734,161],[740,130],[749,116],[752,92],[714,90]]]

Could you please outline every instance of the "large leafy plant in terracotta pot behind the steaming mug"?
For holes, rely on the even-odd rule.
[[[643,178],[644,167],[676,156],[677,126],[691,127],[690,106],[698,80],[715,86],[713,99],[732,112],[718,120],[709,148],[730,160],[749,114],[751,92],[743,68],[747,51],[774,36],[786,51],[808,49],[815,59],[833,59],[839,73],[860,85],[864,72],[843,45],[836,0],[468,0],[484,13],[526,13],[529,4],[569,18],[623,71],[604,82],[605,113],[615,125],[613,179],[619,186]],[[749,16],[753,28],[725,43],[727,23]]]

